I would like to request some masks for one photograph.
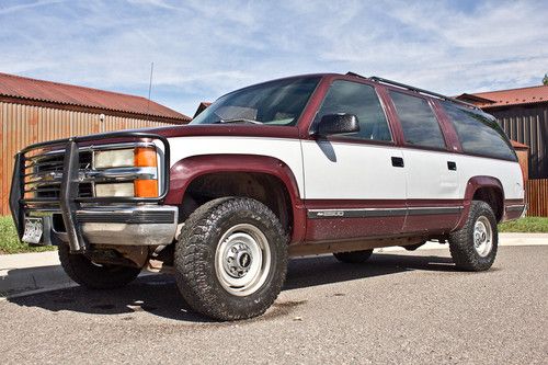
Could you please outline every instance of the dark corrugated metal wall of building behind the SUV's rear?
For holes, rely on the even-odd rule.
[[[486,112],[499,119],[510,139],[529,146],[529,179],[548,178],[548,104]]]

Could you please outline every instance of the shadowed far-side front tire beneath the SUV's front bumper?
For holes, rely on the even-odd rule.
[[[68,244],[58,246],[59,261],[67,275],[90,289],[113,289],[133,282],[140,273],[139,267],[122,265],[99,265],[83,254],[70,253]]]

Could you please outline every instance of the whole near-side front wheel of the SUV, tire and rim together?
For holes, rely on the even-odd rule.
[[[185,221],[174,266],[181,295],[196,311],[219,320],[256,317],[285,281],[286,235],[258,201],[214,199]]]

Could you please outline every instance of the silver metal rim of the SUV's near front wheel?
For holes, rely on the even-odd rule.
[[[264,233],[241,224],[222,235],[215,252],[215,271],[220,285],[236,296],[255,293],[266,281],[271,250]]]

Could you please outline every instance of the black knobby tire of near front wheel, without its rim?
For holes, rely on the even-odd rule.
[[[259,228],[271,252],[264,283],[244,296],[229,293],[216,270],[220,239],[238,225]],[[287,272],[287,236],[264,204],[251,198],[217,198],[198,207],[185,221],[175,246],[174,269],[181,295],[197,312],[217,320],[256,317],[282,290]]]

